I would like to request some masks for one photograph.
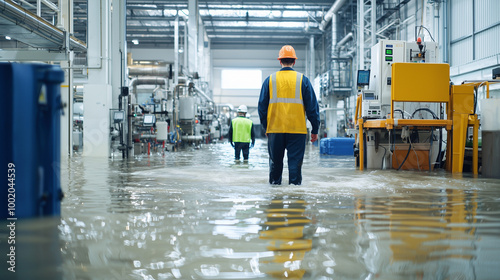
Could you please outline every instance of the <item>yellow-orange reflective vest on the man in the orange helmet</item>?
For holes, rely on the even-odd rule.
[[[278,71],[269,78],[267,133],[307,134],[302,77],[292,70]]]

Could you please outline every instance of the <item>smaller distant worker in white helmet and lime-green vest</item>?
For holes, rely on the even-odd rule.
[[[241,152],[243,152],[243,159],[248,160],[250,148],[255,144],[253,122],[246,118],[247,112],[247,106],[241,105],[238,107],[238,117],[233,119],[229,126],[229,142],[234,147],[234,158],[236,160],[240,159]],[[250,143],[252,143],[251,146]]]

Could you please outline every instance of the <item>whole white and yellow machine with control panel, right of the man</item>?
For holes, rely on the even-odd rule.
[[[370,84],[370,90],[360,90],[357,98],[357,166],[360,170],[432,170],[445,158],[446,169],[460,173],[468,127],[473,127],[472,171],[477,174],[479,119],[475,90],[487,86],[489,98],[489,82],[452,85],[448,64],[395,62],[396,58],[412,60],[412,52],[408,52],[412,45],[405,46],[399,41],[387,41],[372,48],[372,57],[382,53],[382,58],[372,58],[376,64],[371,76],[375,86]],[[435,48],[435,43],[432,46]],[[419,57],[425,58],[425,49],[420,49],[423,55]],[[370,109],[376,109],[377,114],[371,114],[375,111]]]

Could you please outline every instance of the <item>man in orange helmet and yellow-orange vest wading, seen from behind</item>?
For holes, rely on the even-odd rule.
[[[318,140],[319,105],[309,79],[293,70],[295,49],[286,45],[279,52],[281,70],[262,84],[260,123],[266,129],[269,151],[269,183],[281,184],[283,157],[287,150],[289,184],[302,183],[302,161],[307,138],[306,116],[311,122],[311,142]]]

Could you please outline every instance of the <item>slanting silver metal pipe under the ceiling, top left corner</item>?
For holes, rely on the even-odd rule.
[[[29,39],[16,37],[16,34],[12,34],[11,37],[18,41],[25,42],[34,47],[61,48],[63,46],[65,40],[63,31],[10,1],[0,0],[0,16],[11,21],[13,25],[18,25],[30,30],[32,33],[46,39],[47,42],[51,44],[48,46],[32,43]],[[87,45],[75,37],[70,37],[70,48],[83,51],[87,49]]]

